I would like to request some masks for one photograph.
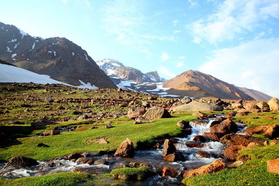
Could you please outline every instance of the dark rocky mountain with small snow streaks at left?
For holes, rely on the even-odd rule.
[[[32,37],[0,22],[0,58],[74,86],[117,88],[80,46],[65,38]]]

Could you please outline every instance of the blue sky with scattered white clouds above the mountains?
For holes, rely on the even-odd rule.
[[[0,21],[95,61],[171,79],[199,70],[279,98],[278,0],[0,0]]]

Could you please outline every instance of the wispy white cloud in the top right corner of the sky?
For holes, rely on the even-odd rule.
[[[279,18],[276,0],[225,0],[216,5],[216,11],[192,23],[193,42],[212,44],[240,39],[241,34],[260,27],[269,18]]]

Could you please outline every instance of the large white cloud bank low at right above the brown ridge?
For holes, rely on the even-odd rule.
[[[199,70],[239,87],[279,98],[279,39],[256,40],[213,51]]]

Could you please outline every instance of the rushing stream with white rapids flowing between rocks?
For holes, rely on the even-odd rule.
[[[218,115],[221,116],[221,115]],[[224,116],[224,115],[222,115]],[[49,162],[40,162],[39,165],[33,167],[7,167],[0,169],[0,176],[5,178],[20,178],[27,176],[39,176],[47,175],[56,172],[87,172],[90,174],[99,173],[110,173],[111,170],[116,168],[123,168],[130,165],[140,165],[141,163],[149,166],[156,172],[156,175],[150,177],[144,181],[126,182],[126,185],[182,185],[183,173],[186,170],[199,168],[203,165],[211,164],[216,159],[220,158],[220,154],[225,150],[222,143],[211,141],[211,142],[197,142],[193,139],[196,135],[202,135],[204,132],[210,132],[210,127],[213,119],[206,120],[195,120],[190,122],[192,126],[192,133],[185,138],[175,138],[175,146],[177,151],[184,154],[186,161],[178,161],[169,163],[164,161],[161,157],[163,153],[163,146],[161,145],[157,149],[136,151],[134,158],[123,158],[114,157],[110,155],[98,155],[96,153],[90,153],[89,157],[93,161],[101,162],[98,165],[79,164],[64,159],[56,159]],[[245,125],[236,123],[239,129],[245,128]],[[192,145],[188,145],[191,143]],[[192,147],[193,146],[193,147]],[[225,160],[223,160],[227,163]],[[0,164],[0,167],[4,166],[5,163]],[[173,170],[173,176],[162,177],[162,170],[164,167],[169,167]],[[109,180],[108,180],[109,181]]]

